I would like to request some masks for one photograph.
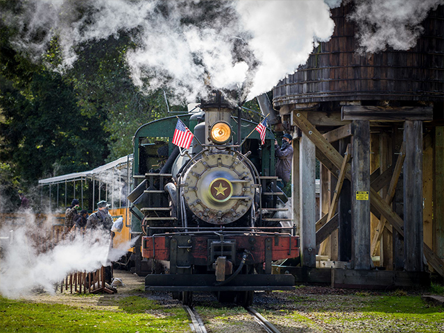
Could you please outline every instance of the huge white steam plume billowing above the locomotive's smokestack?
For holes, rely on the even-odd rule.
[[[137,31],[127,54],[134,83],[167,87],[188,102],[211,89],[234,90],[240,99],[269,91],[334,27],[323,0],[32,0],[7,22],[21,31],[17,49],[35,59],[57,34],[59,71],[74,64],[76,46]]]

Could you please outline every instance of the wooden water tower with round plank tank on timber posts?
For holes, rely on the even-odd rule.
[[[293,129],[302,267],[291,273],[336,286],[427,283],[444,275],[444,6],[412,49],[364,56],[351,11],[333,9],[331,40],[273,89]]]

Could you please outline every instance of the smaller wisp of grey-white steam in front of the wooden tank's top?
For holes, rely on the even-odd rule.
[[[359,27],[359,51],[411,49],[424,30],[420,23],[443,4],[443,0],[355,0],[350,19]]]

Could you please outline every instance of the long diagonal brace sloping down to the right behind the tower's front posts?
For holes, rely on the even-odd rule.
[[[322,153],[322,156],[329,161],[328,163],[326,162],[324,164],[325,167],[328,169],[329,165],[334,165],[334,169],[339,170],[341,168],[343,157],[338,153],[338,151],[336,151],[336,149],[333,148],[332,144],[327,142],[321,133],[319,133],[319,131],[316,130],[316,128],[311,125],[311,123],[307,121],[307,118],[303,117],[302,114],[297,113],[296,117],[293,117],[293,121],[293,124],[302,130],[302,133],[305,133],[311,137],[319,152]],[[334,170],[330,170],[330,172],[334,172]],[[346,168],[345,178],[348,180],[351,179],[350,168],[348,167]],[[395,228],[396,231],[398,231],[402,236],[404,235],[404,230],[402,230],[404,228],[404,221],[402,221],[400,216],[396,214],[387,203],[385,203],[377,191],[371,187],[370,204],[387,219],[388,223],[393,225],[393,228]],[[427,248],[428,246],[424,245],[424,254],[427,258],[427,262],[432,265],[439,275],[444,276],[443,261],[436,256],[436,254],[430,248]]]

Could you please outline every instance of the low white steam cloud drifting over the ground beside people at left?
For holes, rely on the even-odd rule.
[[[128,242],[110,248],[109,232],[103,230],[87,232],[85,236],[73,233],[73,237],[53,243],[51,228],[40,225],[31,212],[14,225],[0,222],[0,237],[12,234],[12,241],[0,239],[0,293],[8,298],[26,296],[35,288],[54,293],[56,284],[69,273],[107,266],[133,246]]]

